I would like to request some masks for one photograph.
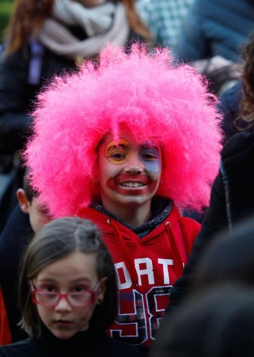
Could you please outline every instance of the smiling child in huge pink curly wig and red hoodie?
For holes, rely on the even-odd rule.
[[[99,65],[84,63],[40,94],[25,151],[31,180],[50,214],[101,228],[118,279],[113,338],[153,343],[187,262],[200,224],[177,206],[209,202],[221,148],[211,97],[166,49],[152,57],[137,45],[129,55],[107,46]]]

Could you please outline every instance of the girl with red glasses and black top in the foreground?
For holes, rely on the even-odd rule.
[[[0,356],[138,356],[106,336],[117,312],[115,268],[97,227],[61,218],[28,246],[20,275],[21,326],[31,338]]]

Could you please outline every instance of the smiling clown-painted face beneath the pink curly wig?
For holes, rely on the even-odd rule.
[[[98,170],[102,205],[109,212],[118,205],[143,205],[158,189],[161,150],[138,144],[128,131],[121,133],[118,145],[108,135],[99,147]]]

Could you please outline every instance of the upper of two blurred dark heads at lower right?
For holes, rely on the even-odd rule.
[[[216,235],[196,266],[192,294],[215,284],[238,282],[254,287],[254,219],[251,215],[234,230]],[[216,257],[216,259],[214,259]]]

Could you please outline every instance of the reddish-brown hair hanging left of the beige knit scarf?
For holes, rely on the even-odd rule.
[[[6,54],[26,45],[30,36],[36,36],[49,16],[54,0],[16,0],[9,25],[5,31],[8,40]]]

